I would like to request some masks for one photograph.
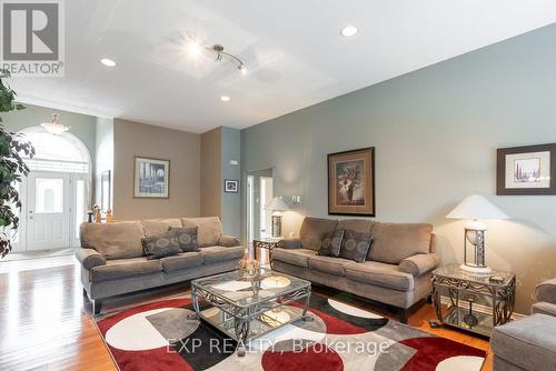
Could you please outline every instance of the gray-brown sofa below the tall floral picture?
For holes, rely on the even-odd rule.
[[[317,254],[322,237],[337,229],[368,232],[374,241],[366,261]],[[363,219],[305,218],[299,237],[282,240],[271,253],[274,270],[407,310],[429,299],[430,272],[439,264],[430,224],[384,223]]]

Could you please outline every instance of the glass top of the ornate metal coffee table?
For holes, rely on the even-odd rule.
[[[232,271],[197,279],[192,284],[237,307],[254,305],[310,287],[309,281],[265,268],[261,268],[256,277]]]

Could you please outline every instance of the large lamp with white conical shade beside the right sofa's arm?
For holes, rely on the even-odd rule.
[[[479,220],[508,219],[500,209],[490,203],[483,195],[474,194],[466,197],[446,218],[469,219],[464,230],[464,263],[461,269],[477,274],[488,274],[492,269],[485,264],[485,232],[486,225]],[[467,241],[475,247],[475,261],[467,261]]]

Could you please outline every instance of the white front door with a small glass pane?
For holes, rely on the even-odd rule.
[[[27,192],[27,250],[68,248],[70,174],[31,172]]]

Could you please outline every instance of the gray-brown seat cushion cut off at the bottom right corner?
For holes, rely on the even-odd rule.
[[[493,330],[490,348],[496,357],[524,370],[548,371],[556,364],[556,319],[546,314],[498,325]]]

